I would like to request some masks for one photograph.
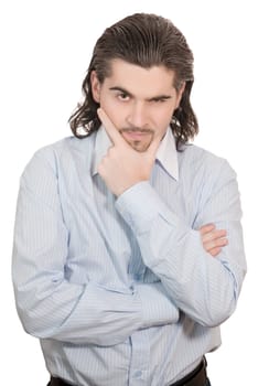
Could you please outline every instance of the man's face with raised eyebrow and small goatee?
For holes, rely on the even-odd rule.
[[[174,72],[164,66],[147,69],[121,60],[111,62],[111,75],[103,84],[92,73],[95,101],[137,151],[165,135],[184,88],[176,92],[173,85]]]

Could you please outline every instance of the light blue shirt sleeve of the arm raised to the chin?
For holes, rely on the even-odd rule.
[[[227,161],[217,172],[211,171],[202,189],[202,203],[191,227],[149,182],[120,195],[117,210],[136,234],[144,264],[176,307],[200,324],[216,326],[235,310],[246,274],[239,193]],[[208,223],[227,230],[228,246],[216,258],[204,250],[197,230]]]

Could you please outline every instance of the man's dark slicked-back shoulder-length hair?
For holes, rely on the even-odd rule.
[[[118,21],[98,39],[82,86],[84,101],[69,118],[71,129],[76,137],[84,138],[101,125],[97,115],[99,104],[93,98],[90,73],[96,71],[101,84],[110,75],[110,62],[114,58],[144,68],[163,65],[173,69],[176,90],[185,83],[180,106],[170,124],[178,149],[194,138],[198,132],[198,124],[190,103],[194,82],[192,51],[170,20],[148,13],[136,13]],[[79,133],[79,129],[84,132]]]

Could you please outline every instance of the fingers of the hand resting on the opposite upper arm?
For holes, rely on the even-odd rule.
[[[222,248],[228,244],[225,229],[216,229],[214,224],[207,224],[200,228],[203,247],[213,257],[217,256]]]

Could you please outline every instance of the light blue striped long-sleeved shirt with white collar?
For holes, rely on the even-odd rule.
[[[235,172],[168,130],[151,180],[116,199],[101,128],[39,150],[21,178],[17,308],[49,372],[79,386],[165,386],[221,344],[246,260]],[[213,258],[197,230],[227,229]]]

